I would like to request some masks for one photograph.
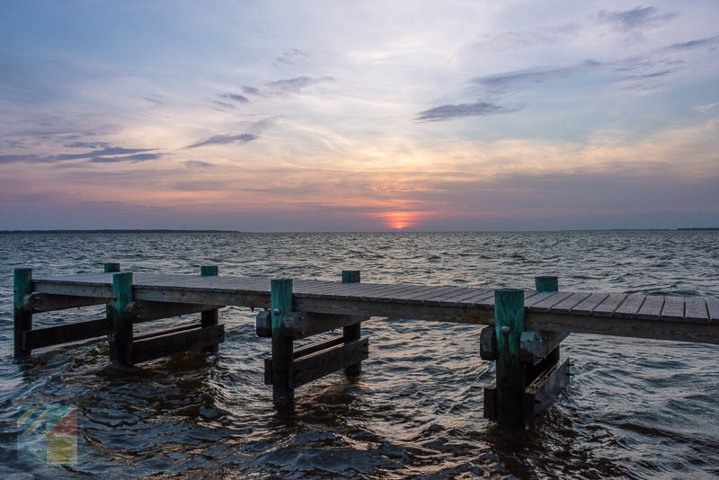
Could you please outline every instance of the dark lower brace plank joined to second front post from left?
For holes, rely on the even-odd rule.
[[[155,360],[181,351],[202,349],[225,341],[225,325],[197,326],[178,333],[157,335],[132,342],[132,362]]]

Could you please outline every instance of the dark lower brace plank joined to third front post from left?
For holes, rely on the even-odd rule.
[[[368,358],[369,341],[366,338],[306,355],[292,362],[292,387],[305,385]],[[273,373],[275,371],[273,369]]]

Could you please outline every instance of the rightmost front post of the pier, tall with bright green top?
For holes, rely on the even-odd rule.
[[[524,290],[494,290],[494,333],[497,339],[497,423],[522,428],[525,369],[519,361],[519,339],[524,332]]]

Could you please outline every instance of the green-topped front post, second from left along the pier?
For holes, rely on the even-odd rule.
[[[132,324],[134,317],[129,311],[132,302],[132,272],[112,275],[112,342],[110,358],[116,368],[132,366]]]

